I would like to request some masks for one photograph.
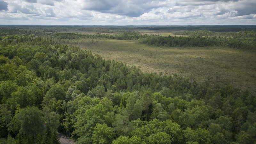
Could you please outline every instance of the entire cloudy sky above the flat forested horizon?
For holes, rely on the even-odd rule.
[[[0,25],[256,25],[256,0],[0,0]]]

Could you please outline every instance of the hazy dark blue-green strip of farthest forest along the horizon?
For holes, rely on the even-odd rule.
[[[256,31],[255,25],[227,25],[227,26],[24,26],[24,25],[0,25],[1,29],[12,30],[42,30],[44,32],[70,32],[70,31],[85,31],[85,32],[100,32],[100,33],[122,33],[126,31],[197,31],[209,30],[214,32],[239,32],[239,31]],[[23,33],[24,34],[24,33]],[[14,35],[14,34],[9,34]],[[15,34],[16,35],[16,34]]]

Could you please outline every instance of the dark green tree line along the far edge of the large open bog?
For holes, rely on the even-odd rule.
[[[186,32],[184,32],[186,33]],[[191,32],[192,33],[192,32]],[[246,33],[247,34],[247,33]],[[255,35],[255,32],[253,32]],[[235,36],[220,37],[220,36],[159,36],[159,35],[141,35],[138,31],[123,32],[122,34],[100,34],[82,35],[76,33],[56,33],[54,34],[55,40],[61,39],[116,39],[116,40],[136,40],[141,44],[148,44],[152,46],[165,46],[165,47],[229,47],[235,49],[252,50],[255,51],[256,37],[243,37]]]

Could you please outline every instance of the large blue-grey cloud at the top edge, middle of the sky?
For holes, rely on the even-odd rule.
[[[101,13],[112,13],[125,15],[129,17],[138,17],[145,12],[149,12],[154,8],[163,7],[159,4],[165,0],[149,1],[149,0],[84,0],[82,8]]]

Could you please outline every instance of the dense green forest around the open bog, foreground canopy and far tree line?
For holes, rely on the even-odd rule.
[[[185,43],[179,46],[229,42],[235,48],[255,50],[255,37],[39,30],[6,35],[11,31],[20,32],[1,29],[0,37],[1,144],[57,144],[57,132],[77,144],[256,143],[256,96],[250,91],[213,84],[212,76],[201,82],[193,76],[143,73],[58,43],[60,39],[120,38],[163,46],[165,41],[169,46],[174,41]]]

